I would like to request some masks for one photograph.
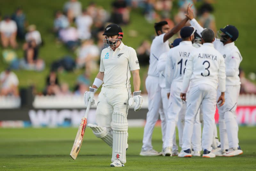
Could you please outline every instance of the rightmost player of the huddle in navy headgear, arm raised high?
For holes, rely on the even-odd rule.
[[[200,35],[204,28],[197,23],[193,14],[189,14],[187,17]],[[222,107],[218,107],[221,150],[216,152],[216,155],[231,157],[243,153],[238,144],[238,124],[236,122],[236,107],[241,84],[238,68],[243,58],[234,43],[238,38],[237,28],[228,25],[221,28],[220,31],[218,32],[220,39],[215,39],[213,44],[225,59],[227,78],[226,102]],[[219,89],[218,94],[220,94]]]

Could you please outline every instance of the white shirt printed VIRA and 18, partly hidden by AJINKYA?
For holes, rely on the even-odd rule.
[[[165,69],[165,89],[167,93],[170,92],[173,81],[182,82],[188,57],[195,50],[196,48],[191,41],[182,41],[168,52]]]

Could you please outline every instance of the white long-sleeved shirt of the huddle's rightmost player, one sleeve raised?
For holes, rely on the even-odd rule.
[[[191,26],[194,26],[196,28],[196,32],[201,36],[202,31],[204,30],[203,27],[201,27],[196,19],[192,19],[189,21]],[[213,42],[214,47],[217,51],[221,53],[223,58],[225,59],[226,63],[226,85],[229,86],[236,86],[240,85],[240,78],[238,76],[239,74],[239,65],[241,61],[243,60],[242,55],[238,48],[235,46],[235,43],[228,43],[223,45],[222,42],[220,42],[220,39],[215,39]]]

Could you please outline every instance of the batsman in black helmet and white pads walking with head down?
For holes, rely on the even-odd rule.
[[[141,108],[143,98],[140,96],[139,62],[133,48],[121,41],[123,32],[120,26],[110,24],[106,27],[103,39],[107,48],[100,57],[100,72],[90,87],[84,93],[85,105],[89,100],[94,104],[93,95],[102,85],[96,109],[96,124],[88,124],[98,138],[106,142],[112,150],[111,167],[122,167],[126,163],[128,148],[128,104],[134,106],[134,111]],[[134,92],[131,96],[130,77],[133,75]]]

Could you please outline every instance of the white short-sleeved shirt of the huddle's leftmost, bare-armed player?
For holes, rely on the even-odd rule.
[[[159,72],[156,68],[157,61],[162,53],[169,51],[169,41],[164,42],[164,34],[156,36],[152,41],[150,47],[150,56],[149,56],[149,67],[148,67],[148,75],[159,77]]]

